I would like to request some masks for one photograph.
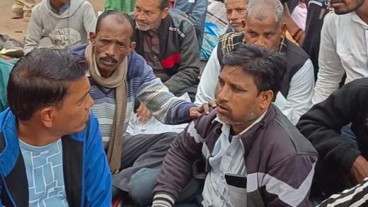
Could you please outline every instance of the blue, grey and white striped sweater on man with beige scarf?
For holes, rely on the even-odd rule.
[[[87,45],[81,45],[71,49],[71,54],[84,56]],[[115,117],[115,88],[104,88],[89,78],[91,83],[90,95],[95,104],[92,107],[93,114],[100,122],[100,131],[103,136],[103,145],[108,147],[110,134],[113,131]],[[124,131],[130,121],[134,108],[134,98],[137,97],[163,124],[183,124],[190,122],[189,110],[195,107],[190,102],[175,97],[168,88],[156,78],[151,66],[136,52],[130,54],[127,71],[127,112],[124,123]]]

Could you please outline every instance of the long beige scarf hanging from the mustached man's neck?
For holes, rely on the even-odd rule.
[[[113,131],[110,137],[108,146],[108,162],[110,170],[113,174],[117,173],[120,168],[120,161],[122,156],[122,136],[124,134],[125,114],[127,110],[127,64],[128,57],[113,71],[110,78],[103,78],[99,76],[97,71],[95,54],[93,53],[93,46],[87,46],[84,52],[89,66],[89,74],[93,81],[105,88],[115,88],[115,118],[113,122]]]

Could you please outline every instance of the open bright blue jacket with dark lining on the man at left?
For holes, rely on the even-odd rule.
[[[29,203],[28,179],[16,123],[11,110],[0,114],[0,206],[6,207],[26,207]],[[92,113],[84,131],[62,136],[62,150],[69,206],[111,206],[110,168],[98,120]]]

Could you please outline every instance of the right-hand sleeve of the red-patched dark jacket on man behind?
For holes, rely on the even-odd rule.
[[[200,76],[200,49],[198,48],[194,26],[190,25],[184,34],[183,43],[180,45],[180,66],[178,73],[171,76],[164,83],[173,94],[197,84],[198,77]]]

